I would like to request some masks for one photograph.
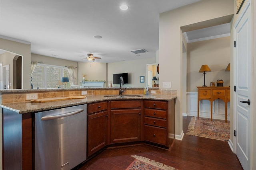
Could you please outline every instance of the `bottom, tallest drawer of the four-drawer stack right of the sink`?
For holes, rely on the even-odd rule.
[[[144,125],[144,140],[167,145],[167,130],[160,127]]]

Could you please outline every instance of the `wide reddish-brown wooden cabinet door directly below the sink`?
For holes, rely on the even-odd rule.
[[[111,110],[110,143],[140,141],[141,109]]]

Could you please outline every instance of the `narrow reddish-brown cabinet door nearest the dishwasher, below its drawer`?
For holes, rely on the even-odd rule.
[[[108,112],[88,115],[88,156],[102,149],[107,143]]]

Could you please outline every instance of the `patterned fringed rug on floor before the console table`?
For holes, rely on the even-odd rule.
[[[208,118],[199,117],[197,119],[193,116],[188,125],[186,135],[228,141],[230,139],[230,121],[225,123],[224,120],[212,119],[211,121]]]

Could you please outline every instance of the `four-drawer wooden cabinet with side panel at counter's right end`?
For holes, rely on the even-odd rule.
[[[175,101],[144,101],[144,141],[170,148],[175,138]]]

